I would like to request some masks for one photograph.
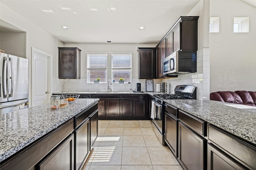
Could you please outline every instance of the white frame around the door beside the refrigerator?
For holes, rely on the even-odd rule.
[[[39,54],[42,54],[42,55],[44,55],[45,57],[47,57],[47,61],[48,61],[48,75],[47,75],[47,77],[48,77],[48,92],[49,92],[49,94],[52,94],[52,89],[51,89],[51,82],[52,82],[52,56],[53,55],[51,55],[51,54],[49,54],[49,53],[46,53],[46,52],[44,52],[44,51],[41,51],[41,50],[39,50],[39,49],[36,49],[36,48],[34,48],[34,47],[32,47],[32,49],[31,49],[31,53],[32,53],[32,70],[31,70],[31,73],[32,73],[32,81],[31,81],[31,83],[32,83],[32,95],[31,95],[31,98],[32,98],[32,105],[30,105],[30,106],[34,106],[34,94],[35,94],[35,88],[34,88],[34,84],[35,84],[35,80],[34,80],[34,53],[39,53]],[[49,102],[49,100],[50,100],[50,98],[47,98],[47,102]]]

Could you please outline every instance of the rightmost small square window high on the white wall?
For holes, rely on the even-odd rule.
[[[234,33],[249,32],[249,17],[234,17]]]

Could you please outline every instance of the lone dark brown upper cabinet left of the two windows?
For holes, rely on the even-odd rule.
[[[80,49],[77,47],[58,47],[59,78],[80,79]]]

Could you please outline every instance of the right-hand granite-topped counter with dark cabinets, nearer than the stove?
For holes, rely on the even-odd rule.
[[[256,107],[213,100],[164,102],[165,141],[184,169],[256,169]]]

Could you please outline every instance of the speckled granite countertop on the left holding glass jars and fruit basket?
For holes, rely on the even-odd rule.
[[[56,129],[99,99],[77,99],[66,108],[50,109],[50,103],[0,114],[0,161]]]

